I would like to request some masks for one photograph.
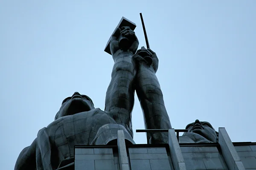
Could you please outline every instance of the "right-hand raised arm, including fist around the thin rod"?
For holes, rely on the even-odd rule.
[[[134,58],[138,63],[136,93],[143,110],[145,129],[172,128],[156,77],[157,55],[149,48],[140,49]],[[150,144],[168,143],[168,133],[147,133],[147,139]]]

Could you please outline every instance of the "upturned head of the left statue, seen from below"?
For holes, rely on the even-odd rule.
[[[94,109],[94,105],[90,97],[75,92],[73,96],[63,100],[61,108],[55,116],[55,120],[63,116],[90,111],[92,109]]]

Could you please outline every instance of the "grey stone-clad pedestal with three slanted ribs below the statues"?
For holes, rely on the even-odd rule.
[[[75,147],[75,170],[255,170],[256,142],[231,142],[225,128],[218,143],[179,144],[174,129],[169,144],[125,144],[118,130],[116,146]]]

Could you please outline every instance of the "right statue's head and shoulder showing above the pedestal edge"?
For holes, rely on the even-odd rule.
[[[216,143],[218,142],[218,132],[209,122],[195,122],[186,125],[188,132],[179,136],[179,143]]]

